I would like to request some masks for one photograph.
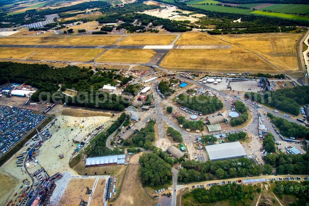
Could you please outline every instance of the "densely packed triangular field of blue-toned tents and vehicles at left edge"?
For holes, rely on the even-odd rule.
[[[0,106],[0,115],[0,156],[45,119],[29,109],[4,106]]]

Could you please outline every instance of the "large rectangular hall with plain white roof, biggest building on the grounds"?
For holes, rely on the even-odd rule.
[[[239,142],[207,145],[205,150],[208,159],[213,161],[247,156]]]

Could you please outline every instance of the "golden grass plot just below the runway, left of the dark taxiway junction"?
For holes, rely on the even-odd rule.
[[[110,49],[95,59],[96,62],[146,63],[155,55],[151,49]]]

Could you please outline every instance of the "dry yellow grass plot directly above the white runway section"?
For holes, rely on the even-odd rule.
[[[117,45],[169,45],[176,35],[132,35],[121,40]]]

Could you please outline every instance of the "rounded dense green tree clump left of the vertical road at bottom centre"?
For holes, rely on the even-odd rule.
[[[138,174],[144,186],[168,183],[172,179],[171,165],[155,153],[145,153],[139,157]]]

